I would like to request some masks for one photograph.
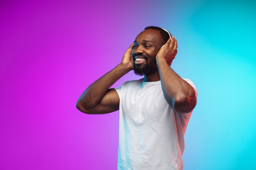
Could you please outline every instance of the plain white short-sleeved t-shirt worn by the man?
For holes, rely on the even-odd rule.
[[[161,81],[124,82],[119,98],[118,170],[182,170],[184,133],[191,113],[173,111]],[[197,89],[191,80],[184,79]]]

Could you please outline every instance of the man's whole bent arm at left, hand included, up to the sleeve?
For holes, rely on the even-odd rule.
[[[133,44],[124,54],[120,64],[86,88],[76,102],[78,110],[87,114],[105,114],[119,110],[119,96],[110,86],[133,69],[132,46]]]

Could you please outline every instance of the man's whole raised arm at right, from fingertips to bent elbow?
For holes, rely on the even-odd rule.
[[[157,53],[157,67],[168,104],[175,112],[189,113],[196,105],[195,90],[170,67],[176,54],[177,40],[172,37]]]

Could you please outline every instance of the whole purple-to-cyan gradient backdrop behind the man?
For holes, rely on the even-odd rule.
[[[117,169],[119,112],[75,103],[154,25],[198,88],[184,170],[255,170],[255,18],[253,0],[0,1],[0,169]]]

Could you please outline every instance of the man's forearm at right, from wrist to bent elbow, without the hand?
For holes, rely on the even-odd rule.
[[[196,97],[193,87],[177,75],[166,60],[157,58],[164,97],[173,110],[187,113],[195,107]]]

